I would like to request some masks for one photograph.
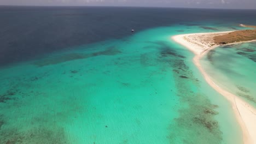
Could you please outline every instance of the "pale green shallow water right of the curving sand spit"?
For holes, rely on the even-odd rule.
[[[206,72],[227,91],[256,107],[256,42],[219,46],[201,63]]]

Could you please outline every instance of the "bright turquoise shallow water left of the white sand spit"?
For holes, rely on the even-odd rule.
[[[171,40],[232,29],[206,26],[151,28],[1,68],[0,143],[242,143],[231,105]]]

